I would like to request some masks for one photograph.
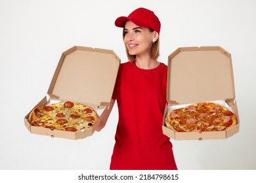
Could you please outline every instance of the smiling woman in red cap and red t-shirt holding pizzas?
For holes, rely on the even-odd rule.
[[[121,63],[112,105],[119,122],[110,169],[177,169],[172,144],[163,135],[167,65],[157,59],[160,21],[146,8],[117,18],[129,61]]]

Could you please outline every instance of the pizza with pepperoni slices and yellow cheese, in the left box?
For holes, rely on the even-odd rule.
[[[92,127],[98,120],[98,114],[87,105],[62,101],[33,108],[28,120],[31,125],[37,127],[77,131]]]

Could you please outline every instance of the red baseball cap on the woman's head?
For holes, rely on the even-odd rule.
[[[120,16],[117,18],[115,25],[117,27],[124,27],[127,20],[131,20],[131,22],[140,27],[153,29],[160,34],[161,23],[152,10],[148,10],[146,8],[137,8],[131,12],[129,16]]]

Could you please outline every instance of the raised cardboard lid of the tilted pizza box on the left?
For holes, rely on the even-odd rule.
[[[107,106],[119,64],[112,50],[74,46],[62,53],[47,93],[59,101]]]

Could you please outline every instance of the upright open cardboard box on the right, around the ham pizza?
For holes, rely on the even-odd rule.
[[[205,101],[223,101],[236,114],[238,124],[225,131],[175,132],[165,125],[170,107]],[[226,139],[239,131],[231,55],[220,46],[182,47],[169,55],[167,106],[163,133],[175,140]]]

